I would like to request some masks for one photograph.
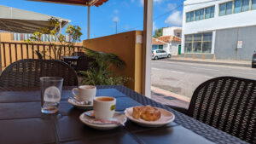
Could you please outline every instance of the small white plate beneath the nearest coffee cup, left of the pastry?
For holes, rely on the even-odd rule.
[[[93,110],[91,110],[89,112],[93,112]],[[119,127],[121,124],[125,124],[125,122],[127,120],[127,118],[125,117],[125,114],[121,114],[119,112],[115,112],[113,114],[113,120],[119,121],[120,124],[93,124],[93,123],[89,123],[88,121],[94,120],[95,118],[87,116],[85,114],[85,112],[80,115],[79,119],[84,124],[88,125],[91,128],[94,128],[96,130],[111,130],[111,129]]]

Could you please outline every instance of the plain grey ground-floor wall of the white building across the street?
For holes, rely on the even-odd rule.
[[[237,41],[242,41],[241,49],[237,49]],[[215,46],[217,59],[252,60],[256,50],[256,26],[218,30]]]

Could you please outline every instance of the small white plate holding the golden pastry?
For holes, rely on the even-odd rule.
[[[165,109],[162,109],[159,107],[155,107],[155,108],[157,108],[161,112],[160,119],[156,121],[146,121],[141,118],[133,118],[132,117],[133,107],[125,109],[125,116],[129,118],[132,122],[135,122],[144,127],[160,127],[165,124],[169,124],[174,120],[175,116],[172,112],[166,111]]]

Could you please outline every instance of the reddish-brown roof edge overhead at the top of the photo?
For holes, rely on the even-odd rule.
[[[64,3],[64,4],[74,4],[82,6],[93,6],[96,7],[102,5],[108,0],[28,0],[28,1],[38,1],[38,2],[49,2],[49,3]]]

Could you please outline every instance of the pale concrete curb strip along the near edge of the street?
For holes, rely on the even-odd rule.
[[[190,98],[189,97],[184,96],[184,95],[178,95],[176,93],[172,93],[172,92],[167,91],[165,89],[160,89],[160,88],[151,86],[151,91],[153,91],[154,93],[161,94],[161,95],[172,96],[172,97],[174,97],[174,98],[176,98],[178,100],[181,100],[181,101],[190,102]]]

